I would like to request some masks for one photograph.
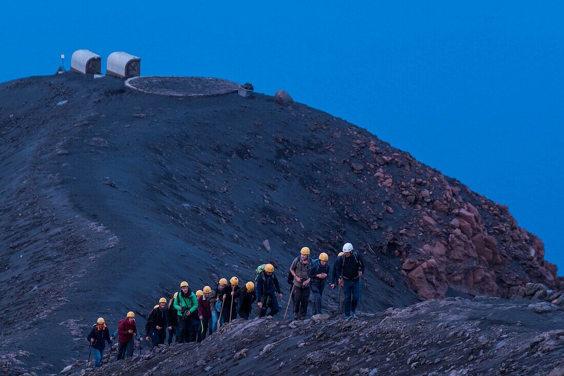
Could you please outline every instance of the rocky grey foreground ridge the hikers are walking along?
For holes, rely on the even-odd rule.
[[[95,375],[541,375],[564,372],[562,311],[528,299],[428,300],[348,321],[236,321]],[[533,303],[535,304],[535,303]],[[544,304],[544,303],[540,303]],[[369,317],[367,317],[369,316]],[[136,354],[138,355],[138,353]],[[555,375],[561,375],[556,373]]]

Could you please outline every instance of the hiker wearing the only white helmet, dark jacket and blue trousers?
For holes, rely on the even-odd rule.
[[[360,296],[360,277],[364,273],[364,263],[362,257],[353,252],[352,244],[346,243],[343,246],[344,254],[338,257],[337,275],[339,283],[343,286],[345,301],[345,318],[356,316],[356,305]]]

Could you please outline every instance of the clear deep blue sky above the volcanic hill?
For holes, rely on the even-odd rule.
[[[116,4],[3,4],[0,81],[90,49],[138,55],[143,75],[283,88],[507,204],[564,269],[564,3]]]

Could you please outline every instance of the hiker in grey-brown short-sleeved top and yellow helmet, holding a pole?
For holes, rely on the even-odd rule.
[[[293,283],[293,300],[294,300],[294,320],[305,320],[307,316],[307,303],[310,300],[310,281],[307,275],[311,266],[310,248],[303,247],[300,256],[296,257],[290,265],[290,274],[292,274]]]

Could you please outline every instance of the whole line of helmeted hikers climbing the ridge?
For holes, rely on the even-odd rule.
[[[321,298],[328,277],[331,288],[342,289],[342,294],[339,292],[339,312],[344,312],[345,319],[356,316],[360,277],[364,273],[362,257],[354,251],[351,243],[346,243],[334,261],[330,275],[327,253],[320,253],[315,260],[310,253],[308,247],[303,247],[289,268],[288,283],[292,285],[290,299],[294,303],[294,320],[306,319],[311,295],[312,314],[321,313]],[[221,278],[217,287],[204,286],[196,293],[188,286],[188,282],[183,281],[180,291],[175,292],[170,300],[160,298],[149,313],[145,339],[151,341],[152,347],[165,342],[171,344],[173,338],[179,343],[201,342],[237,316],[248,320],[254,301],[257,301],[256,313],[259,317],[267,314],[274,316],[280,311],[279,301],[282,300],[282,290],[274,269],[272,264],[263,264],[255,271],[254,282],[240,286],[237,277],[231,277],[229,281]],[[285,317],[286,314],[284,320]],[[120,320],[112,335],[104,318],[98,318],[96,324],[92,325],[87,340],[90,342],[90,352],[94,351],[94,367],[102,363],[105,344],[112,346],[115,338],[118,342],[117,360],[133,356],[135,340],[143,340],[134,312],[128,312]]]

